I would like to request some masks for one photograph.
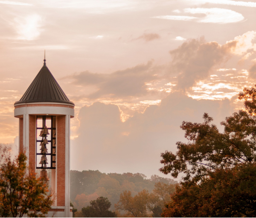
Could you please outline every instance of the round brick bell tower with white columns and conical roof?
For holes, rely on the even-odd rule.
[[[70,118],[74,103],[58,85],[46,66],[41,68],[20,101],[19,151],[26,153],[29,170],[49,181],[55,200],[48,216],[72,217],[70,207]]]

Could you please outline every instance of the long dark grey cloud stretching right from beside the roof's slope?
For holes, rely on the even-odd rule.
[[[74,85],[96,85],[98,90],[87,96],[90,99],[97,99],[102,96],[125,98],[147,94],[148,87],[146,83],[157,80],[158,77],[155,74],[159,71],[160,68],[153,67],[153,62],[149,61],[145,65],[137,65],[112,74],[94,74],[85,71],[64,77],[64,79],[73,79]]]

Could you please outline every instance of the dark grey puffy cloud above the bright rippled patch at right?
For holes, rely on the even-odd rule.
[[[177,49],[170,51],[172,66],[170,74],[177,75],[175,89],[189,89],[196,82],[207,78],[215,65],[223,62],[236,46],[236,41],[219,45],[205,42],[204,38],[183,42]]]

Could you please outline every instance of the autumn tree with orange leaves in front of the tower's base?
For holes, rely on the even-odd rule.
[[[0,167],[0,216],[45,217],[52,205],[47,181],[28,172],[26,156],[20,153],[14,161],[6,158]]]

